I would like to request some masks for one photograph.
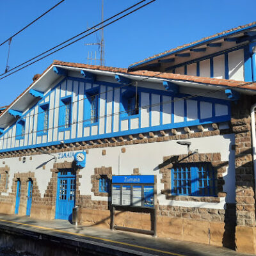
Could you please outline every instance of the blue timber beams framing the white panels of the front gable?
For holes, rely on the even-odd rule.
[[[79,118],[79,122],[75,122],[74,123],[72,122],[72,127],[74,127],[74,129],[72,128],[72,131],[74,132],[74,135],[72,137],[67,137],[65,136],[64,134],[64,137],[60,138],[59,136],[59,133],[57,133],[57,136],[56,138],[53,137],[53,134],[49,134],[47,131],[46,132],[42,132],[42,128],[40,128],[40,124],[39,124],[39,127],[37,127],[37,130],[36,130],[36,124],[35,122],[39,122],[38,120],[36,121],[35,118],[33,119],[33,122],[31,122],[31,118],[33,118],[33,111],[35,108],[38,108],[38,112],[40,114],[38,114],[38,118],[40,115],[42,115],[42,113],[44,113],[44,108],[49,108],[49,102],[47,102],[46,104],[44,103],[45,102],[45,98],[48,97],[49,99],[49,96],[50,96],[50,93],[56,93],[56,88],[60,88],[60,85],[61,84],[66,84],[66,81],[67,79],[70,79],[70,81],[72,81],[72,84],[74,84],[76,81],[78,81],[79,83],[84,83],[84,89],[85,89],[85,83],[86,83],[86,88],[90,88],[88,90],[83,90],[83,93],[84,93],[84,100],[79,100],[79,102],[82,102],[83,101],[83,108],[84,108],[84,112],[83,112],[83,115],[86,116],[88,115],[88,118]],[[56,84],[56,86],[54,88],[52,88],[52,90],[48,93],[46,93],[46,95],[44,96],[44,98],[42,100],[40,100],[38,103],[35,104],[35,106],[33,106],[31,109],[28,109],[28,111],[26,111],[23,115],[22,115],[22,119],[26,118],[26,131],[32,131],[33,128],[35,129],[34,132],[29,132],[31,134],[31,138],[29,139],[29,135],[28,133],[26,132],[26,136],[24,136],[24,141],[26,141],[26,144],[21,144],[20,143],[20,140],[13,140],[11,141],[10,143],[10,146],[8,146],[7,148],[3,148],[3,140],[6,141],[6,140],[9,140],[8,137],[5,136],[5,139],[4,139],[4,134],[6,134],[8,132],[8,136],[10,136],[10,138],[12,138],[12,136],[15,136],[15,133],[11,135],[10,131],[11,129],[13,129],[13,125],[17,125],[16,124],[13,124],[11,127],[9,127],[8,129],[6,129],[6,131],[3,132],[3,134],[0,136],[0,143],[2,143],[2,148],[0,150],[0,152],[6,152],[6,151],[10,151],[10,150],[22,150],[22,149],[25,149],[25,148],[36,148],[36,147],[44,147],[44,146],[51,146],[51,145],[58,145],[60,144],[60,141],[61,140],[64,140],[65,143],[74,143],[76,141],[88,141],[88,140],[98,140],[98,139],[102,139],[102,138],[111,138],[111,137],[115,137],[115,136],[125,136],[125,135],[128,135],[128,134],[138,134],[138,133],[143,133],[143,132],[148,132],[148,131],[159,131],[159,130],[164,130],[164,129],[172,129],[172,128],[179,128],[179,127],[186,127],[186,126],[193,126],[193,125],[204,125],[204,124],[211,124],[212,122],[226,122],[226,121],[229,121],[230,120],[230,102],[228,102],[228,100],[220,100],[220,99],[214,99],[214,98],[209,98],[209,97],[193,97],[193,100],[196,100],[198,102],[198,119],[194,120],[194,121],[187,121],[186,120],[186,116],[184,116],[184,122],[180,122],[180,123],[175,123],[174,120],[173,120],[173,116],[174,116],[174,113],[172,113],[172,123],[170,124],[163,124],[163,106],[159,106],[159,113],[160,113],[160,124],[159,125],[151,125],[150,123],[150,126],[149,127],[141,127],[141,109],[138,109],[138,114],[136,115],[128,115],[127,111],[124,106],[123,106],[123,99],[126,98],[129,98],[129,97],[132,97],[133,95],[135,95],[135,87],[134,86],[125,86],[124,89],[121,89],[121,90],[116,90],[118,87],[120,87],[120,84],[117,84],[117,83],[108,83],[108,82],[102,82],[102,81],[99,81],[95,84],[93,84],[94,87],[92,87],[92,84],[91,84],[91,87],[88,86],[88,83],[90,83],[90,81],[88,79],[82,79],[82,78],[77,78],[77,77],[67,77],[67,79],[63,79],[63,81],[61,81],[60,83]],[[100,85],[100,86],[97,86],[97,85]],[[107,87],[108,86],[108,87]],[[66,86],[67,87],[67,86]],[[111,131],[110,132],[106,132],[106,123],[107,123],[107,112],[106,112],[106,97],[107,97],[107,93],[104,93],[106,92],[107,90],[112,90],[111,91],[111,95],[116,95],[116,93],[118,92],[119,94],[119,102],[120,103],[120,111],[124,111],[124,114],[120,114],[119,115],[119,122],[118,122],[118,130],[114,131],[113,130],[113,126],[111,127]],[[65,90],[65,89],[63,89]],[[72,95],[74,94],[74,85],[72,85],[72,88],[70,87],[70,90],[72,90]],[[58,93],[60,93],[60,90],[58,91]],[[100,97],[100,100],[104,100],[102,102],[100,102],[100,100],[98,99],[98,103],[96,104],[97,105],[97,108],[99,109],[100,108],[100,104],[103,103],[104,106],[105,106],[105,112],[102,114],[102,118],[99,118],[100,120],[103,120],[104,124],[104,132],[99,132],[99,121],[98,122],[91,122],[91,102],[90,102],[90,96],[92,96],[93,94],[95,95],[95,93],[100,93],[99,97]],[[149,89],[149,88],[140,88],[138,87],[138,105],[141,107],[141,93],[148,93],[149,95],[149,99],[150,101],[148,102],[148,105],[151,105],[152,104],[152,94],[156,94],[156,95],[159,95],[161,101],[163,101],[163,96],[166,95],[166,96],[169,96],[171,97],[170,99],[174,99],[173,98],[173,94],[171,92],[166,92],[164,90],[155,90],[155,89]],[[56,94],[55,94],[56,95]],[[60,95],[60,94],[59,94]],[[64,95],[64,94],[63,94]],[[67,95],[67,94],[65,94]],[[109,93],[108,93],[109,95]],[[70,96],[65,96],[67,97],[66,99],[68,99],[68,97]],[[65,97],[61,97],[61,99],[65,99]],[[182,94],[182,93],[177,93],[177,95],[175,95],[175,97],[177,98],[181,98],[181,97],[188,97],[188,95],[186,94]],[[212,106],[213,106],[213,109],[214,110],[214,104],[224,104],[225,106],[227,106],[227,109],[228,109],[228,113],[227,115],[223,115],[223,116],[215,116],[215,114],[212,115],[211,118],[205,118],[205,119],[202,119],[200,118],[200,101],[205,101],[205,102],[211,102],[212,103]],[[87,103],[86,103],[87,102]],[[115,102],[111,102],[111,105],[113,106]],[[77,106],[79,105],[80,103],[77,104]],[[86,106],[86,104],[88,104],[88,106]],[[186,113],[186,108],[187,106],[185,105],[186,104],[186,100],[184,102],[184,106],[185,106],[185,109],[184,109],[184,113]],[[108,104],[109,105],[109,104]],[[56,105],[56,102],[54,100],[54,104],[51,105],[51,108],[59,108],[59,104]],[[76,106],[76,105],[73,105],[73,106]],[[102,106],[102,105],[101,105]],[[172,109],[173,106],[172,106]],[[149,115],[150,115],[150,120],[149,122],[151,122],[151,113],[152,113],[152,108],[149,107],[148,108],[148,111],[149,111]],[[77,109],[76,109],[76,116],[78,115],[78,112]],[[114,115],[115,111],[114,111],[114,108],[112,108],[112,112],[110,113],[110,115],[113,115],[113,116],[116,116]],[[212,112],[213,113],[213,112]],[[55,115],[55,116],[54,116]],[[52,126],[54,127],[58,127],[58,119],[57,119],[57,114],[53,113],[53,120],[54,120],[54,124],[52,124]],[[59,115],[59,113],[58,113]],[[185,114],[186,115],[186,114]],[[75,116],[73,115],[72,118],[74,118],[74,120],[76,120]],[[136,129],[131,129],[131,121],[133,118],[138,118],[138,128]],[[125,131],[121,131],[120,129],[120,125],[121,125],[121,122],[122,120],[124,119],[127,119],[127,122],[128,122],[128,130],[125,130]],[[56,120],[56,121],[55,121]],[[87,120],[87,123],[86,123],[86,120]],[[19,120],[17,121],[19,122]],[[85,134],[84,130],[83,132],[81,133],[81,136],[78,136],[77,133],[78,133],[78,125],[81,124],[81,122],[83,122],[84,124],[84,127],[88,127],[88,133]],[[44,122],[42,122],[44,123]],[[113,124],[113,118],[111,120],[111,122],[109,122],[108,124]],[[28,125],[28,126],[27,126]],[[93,134],[92,135],[92,127],[97,125],[97,134]],[[51,127],[50,127],[51,128]],[[38,131],[41,131],[41,132],[38,132]],[[49,129],[49,131],[52,132],[52,129]],[[71,131],[71,128],[70,130],[67,130],[68,132]],[[66,132],[66,131],[65,131]],[[52,132],[53,133],[53,132]],[[47,135],[45,136],[45,139],[44,139],[44,142],[43,140],[40,140],[40,142],[38,142],[37,138],[40,138],[40,136],[42,135]],[[33,140],[33,138],[35,138],[35,140]],[[10,139],[12,140],[12,139]],[[29,144],[28,141],[31,141],[31,143]],[[35,141],[32,143],[32,141]],[[5,142],[4,142],[5,143]],[[14,144],[15,143],[15,144]],[[5,143],[4,145],[9,145],[9,143]]]

